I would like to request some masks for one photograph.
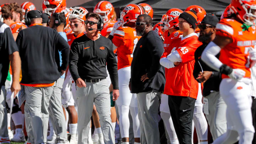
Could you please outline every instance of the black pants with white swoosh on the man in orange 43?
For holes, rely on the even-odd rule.
[[[180,144],[191,144],[195,102],[196,99],[191,97],[168,97],[172,122]]]

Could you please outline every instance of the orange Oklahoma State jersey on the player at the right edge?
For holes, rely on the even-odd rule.
[[[233,69],[245,71],[245,78],[251,78],[251,60],[249,49],[254,48],[256,44],[255,26],[249,27],[248,30],[242,30],[242,23],[224,18],[216,26],[216,34],[223,37],[229,37],[233,40],[220,50],[219,60]],[[222,78],[229,78],[222,75]]]

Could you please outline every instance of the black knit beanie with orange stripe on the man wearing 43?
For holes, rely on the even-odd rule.
[[[189,22],[194,29],[196,29],[197,26],[197,15],[196,11],[189,10],[182,12],[179,16],[179,18],[184,18],[187,22]]]

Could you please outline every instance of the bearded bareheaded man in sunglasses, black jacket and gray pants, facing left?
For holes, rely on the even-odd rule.
[[[130,90],[137,94],[140,120],[140,143],[160,144],[158,131],[158,107],[164,91],[165,70],[159,63],[164,45],[152,30],[152,18],[139,15],[136,20],[139,39],[131,64]]]

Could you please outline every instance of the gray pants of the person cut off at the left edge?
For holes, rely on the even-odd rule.
[[[7,111],[5,108],[5,86],[1,87],[0,93],[0,137],[9,137],[7,129]]]

